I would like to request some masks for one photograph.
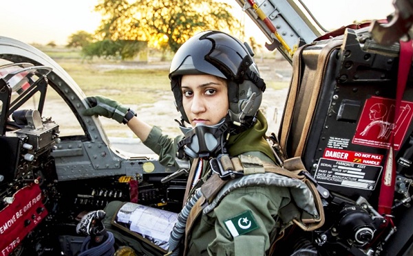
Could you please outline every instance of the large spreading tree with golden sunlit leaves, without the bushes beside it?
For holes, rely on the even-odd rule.
[[[231,8],[216,0],[100,0],[95,10],[103,14],[100,38],[147,40],[151,47],[167,45],[175,52],[202,30],[237,30],[240,23]]]

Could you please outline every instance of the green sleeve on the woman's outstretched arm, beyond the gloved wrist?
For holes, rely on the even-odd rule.
[[[144,145],[150,148],[153,152],[158,154],[159,163],[164,166],[176,165],[175,157],[178,151],[178,142],[182,136],[171,138],[168,135],[162,134],[162,130],[158,126],[153,126],[151,132],[145,141]]]

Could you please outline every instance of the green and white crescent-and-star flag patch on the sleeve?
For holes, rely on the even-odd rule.
[[[233,237],[244,235],[250,231],[258,229],[257,222],[255,221],[251,210],[246,210],[229,220],[225,220],[224,223],[226,229],[229,230]]]

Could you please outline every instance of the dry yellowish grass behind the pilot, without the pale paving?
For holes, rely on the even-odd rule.
[[[86,95],[96,93],[110,93],[114,99],[132,103],[130,95],[140,92],[138,102],[153,103],[160,93],[169,91],[168,67],[169,62],[131,62],[120,60],[85,60],[80,50],[64,47],[39,47],[41,51],[53,58],[69,73],[81,86]],[[257,58],[258,65],[267,67],[271,75],[276,62],[274,56],[268,54],[267,58]],[[268,64],[270,63],[270,64]],[[265,73],[262,72],[262,73]],[[266,79],[268,88],[284,89],[288,81],[279,79]]]

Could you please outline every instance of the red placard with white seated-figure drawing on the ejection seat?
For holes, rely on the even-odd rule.
[[[395,100],[370,97],[363,107],[352,143],[375,148],[388,148],[394,136],[394,148],[399,150],[413,117],[413,103],[402,101],[399,115],[394,116]]]

